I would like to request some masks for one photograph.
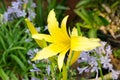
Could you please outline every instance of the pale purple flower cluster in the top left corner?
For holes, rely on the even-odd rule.
[[[7,11],[4,13],[4,22],[6,23],[7,21],[12,21],[16,18],[25,17],[26,14],[28,15],[28,19],[32,21],[36,16],[33,10],[36,7],[36,4],[32,3],[31,6],[27,8],[27,12],[23,7],[24,4],[27,5],[28,0],[13,1],[11,6],[9,6]]]

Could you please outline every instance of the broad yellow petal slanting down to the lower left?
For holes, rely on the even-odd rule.
[[[48,47],[45,47],[41,51],[39,51],[36,54],[36,56],[32,59],[32,61],[46,59],[48,57],[55,56],[61,51],[62,51],[62,48],[54,44],[50,44]]]

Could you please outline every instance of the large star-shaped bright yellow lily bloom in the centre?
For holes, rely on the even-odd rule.
[[[80,51],[92,50],[95,47],[100,46],[99,39],[88,39],[86,37],[78,36],[75,28],[73,29],[72,33],[68,35],[66,30],[67,18],[68,16],[62,20],[61,26],[59,27],[55,12],[54,10],[51,10],[47,19],[48,31],[50,35],[38,34],[35,31],[33,24],[28,19],[25,19],[32,33],[32,37],[37,42],[40,42],[40,40],[44,39],[50,43],[47,47],[44,47],[36,54],[36,56],[32,59],[33,61],[46,59],[58,54],[58,67],[61,70],[65,54],[69,50],[70,52],[74,51],[74,55],[72,57],[72,63],[74,63],[78,59]],[[71,53],[69,56],[71,56]]]

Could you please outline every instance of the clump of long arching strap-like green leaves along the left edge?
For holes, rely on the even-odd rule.
[[[25,41],[28,35],[25,34],[26,28],[22,27],[23,20],[21,18],[16,20],[16,23],[9,22],[8,25],[0,26],[0,70],[3,80],[8,80],[4,79],[8,78],[6,76],[9,76],[10,79],[27,76],[28,58],[26,53],[33,44]]]

